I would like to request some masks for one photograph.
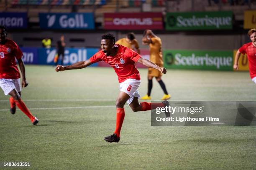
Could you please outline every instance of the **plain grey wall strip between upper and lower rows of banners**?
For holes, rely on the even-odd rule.
[[[41,31],[41,32],[11,32],[8,36],[23,47],[41,47],[41,40],[48,36],[52,40],[52,46],[56,45],[61,35],[65,35],[67,47],[100,47],[102,34],[107,31],[84,31],[84,32],[63,32],[63,31]],[[108,31],[116,40],[125,37],[127,32]],[[142,45],[143,31],[135,32],[136,39],[141,48],[148,48]],[[248,42],[244,34],[188,34],[184,32],[169,32],[161,34],[156,32],[162,40],[163,49],[187,49],[187,50],[233,50]]]

